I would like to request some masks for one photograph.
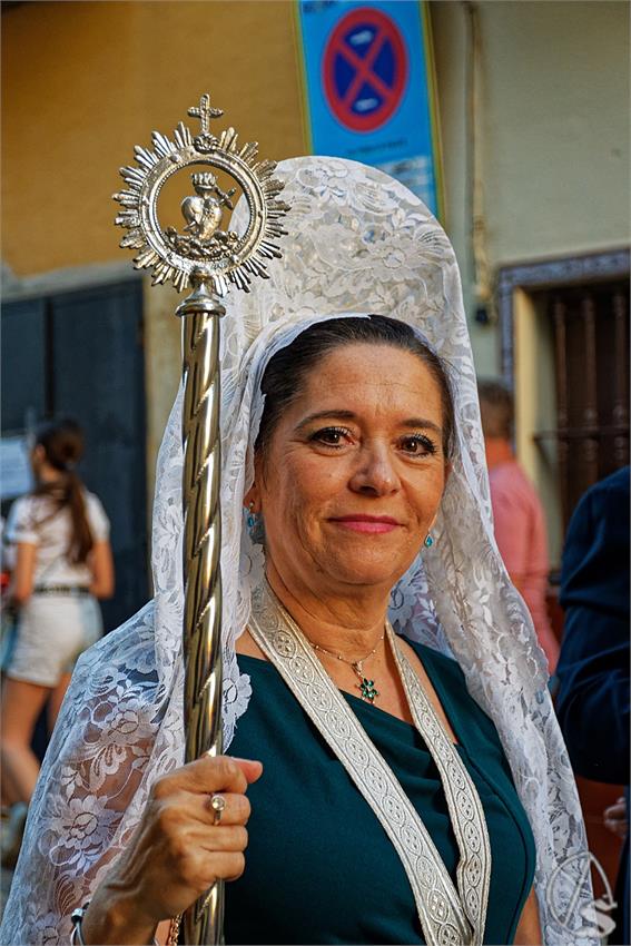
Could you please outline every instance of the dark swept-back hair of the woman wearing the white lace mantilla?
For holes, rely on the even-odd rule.
[[[404,322],[385,315],[329,318],[306,328],[269,359],[263,381],[265,406],[255,450],[265,452],[284,412],[303,391],[305,380],[318,362],[336,348],[353,344],[390,345],[416,355],[427,366],[441,390],[443,407],[443,452],[452,453],[454,407],[450,382],[441,359]]]

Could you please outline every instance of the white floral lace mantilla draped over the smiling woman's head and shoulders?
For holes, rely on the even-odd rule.
[[[475,373],[453,249],[440,225],[382,171],[335,158],[278,166],[290,237],[270,278],[233,293],[223,318],[224,728],[229,746],[246,711],[238,670],[264,552],[245,524],[253,481],[260,378],[274,352],[307,325],[379,313],[412,325],[447,366],[456,455],[434,529],[392,593],[395,630],[451,652],[472,696],[493,719],[538,847],[535,887],[544,942],[597,942],[576,789],[546,689],[530,615],[493,539]],[[245,207],[237,207],[239,214]],[[158,457],[154,504],[155,598],[85,653],[73,674],[36,794],[1,942],[67,943],[71,909],[89,898],[134,832],[152,781],[183,762],[181,393]],[[548,884],[558,871],[556,904]],[[575,900],[573,900],[575,897]]]

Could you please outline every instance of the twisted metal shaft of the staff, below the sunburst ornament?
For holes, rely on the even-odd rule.
[[[223,750],[220,304],[197,286],[184,316],[184,718],[187,762]],[[223,939],[224,886],[215,884],[185,914],[185,942]]]

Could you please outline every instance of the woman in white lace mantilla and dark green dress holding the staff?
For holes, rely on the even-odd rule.
[[[377,170],[279,170],[292,240],[228,300],[221,358],[225,743],[249,758],[181,767],[178,398],[156,598],[77,668],[3,934],[67,937],[91,900],[86,943],[166,942],[245,864],[228,943],[591,943],[575,788],[492,539],[453,252]]]

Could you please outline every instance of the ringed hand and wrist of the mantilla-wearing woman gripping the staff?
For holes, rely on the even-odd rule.
[[[129,848],[95,891],[86,943],[150,943],[157,924],[189,907],[217,879],[244,871],[250,806],[245,792],[260,762],[205,756],[159,778]],[[210,806],[226,807],[215,825]]]

